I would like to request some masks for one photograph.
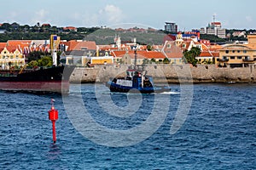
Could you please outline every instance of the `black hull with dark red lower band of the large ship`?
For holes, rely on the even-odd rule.
[[[69,77],[73,70],[73,65],[39,67],[21,71],[1,70],[0,90],[68,94]]]

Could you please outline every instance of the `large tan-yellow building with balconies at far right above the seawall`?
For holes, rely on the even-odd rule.
[[[256,35],[247,36],[247,44],[230,44],[219,49],[218,66],[247,67],[256,62]]]

